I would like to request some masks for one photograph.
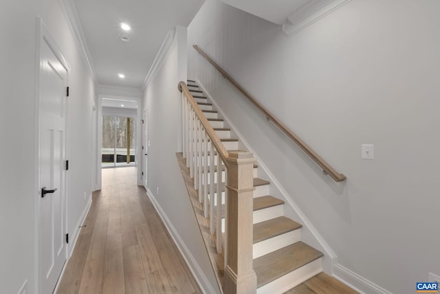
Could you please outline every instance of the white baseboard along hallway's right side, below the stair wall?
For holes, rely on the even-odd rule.
[[[157,200],[154,198],[154,194],[150,191],[150,189],[146,191],[146,195],[148,196],[148,198],[150,198],[153,206],[155,207],[160,218],[162,219],[162,222],[164,222],[168,233],[170,233],[171,238],[173,238],[177,248],[179,249],[184,260],[186,261],[186,264],[188,264],[188,267],[192,275],[194,275],[197,284],[199,284],[201,291],[206,294],[217,293],[216,291],[214,291],[214,288],[212,288],[206,275],[200,269],[199,264],[197,264],[197,261],[195,260],[194,256],[192,256],[188,247],[186,247],[184,240],[181,239],[179,233],[177,233],[175,227],[166,216],[165,211],[162,209],[162,207],[160,207],[159,202],[157,202]]]

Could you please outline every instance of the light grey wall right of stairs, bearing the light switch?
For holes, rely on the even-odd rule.
[[[208,87],[336,252],[335,273],[344,266],[393,293],[440,274],[439,11],[435,0],[353,0],[287,38],[208,0],[188,27],[188,77]],[[347,181],[322,175],[192,44]],[[362,143],[375,145],[375,160],[361,159]]]

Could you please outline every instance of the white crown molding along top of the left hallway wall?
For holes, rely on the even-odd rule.
[[[83,58],[95,85],[97,85],[96,70],[91,61],[90,52],[85,41],[83,26],[80,23],[75,3],[72,0],[58,0],[58,2],[60,3],[61,10],[63,10],[67,25],[69,25],[69,29],[74,36],[80,55]]]

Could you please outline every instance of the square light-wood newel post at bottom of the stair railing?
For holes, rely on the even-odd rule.
[[[256,293],[252,266],[254,163],[254,156],[248,151],[229,152],[224,288],[228,294]]]

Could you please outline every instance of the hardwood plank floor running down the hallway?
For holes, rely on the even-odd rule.
[[[58,294],[201,293],[134,167],[102,169]]]

